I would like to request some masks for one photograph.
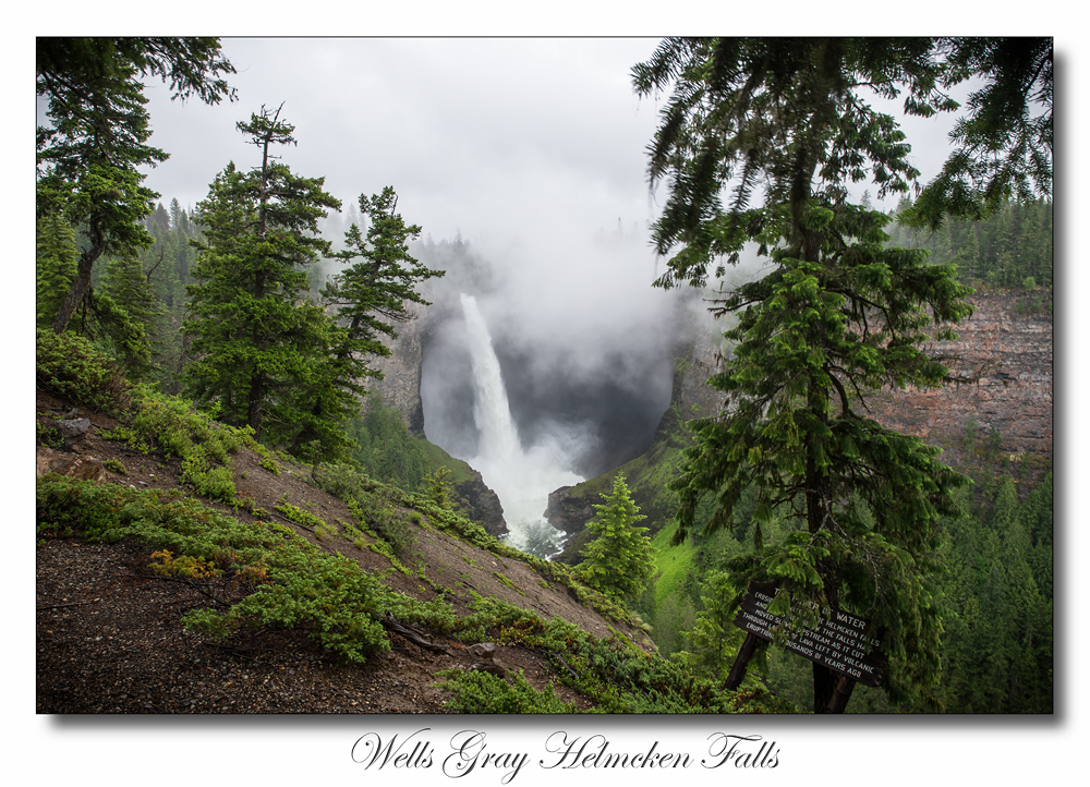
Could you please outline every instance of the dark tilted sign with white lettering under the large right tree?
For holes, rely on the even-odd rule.
[[[735,626],[763,640],[774,639],[792,653],[816,662],[865,686],[877,686],[886,658],[879,651],[880,640],[872,637],[872,621],[840,609],[815,609],[815,628],[792,625],[789,618],[771,615],[768,604],[776,597],[772,584],[752,585],[735,617]]]

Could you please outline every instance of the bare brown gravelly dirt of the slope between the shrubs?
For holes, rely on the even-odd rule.
[[[69,413],[68,402],[39,393],[39,413]],[[105,483],[135,488],[178,487],[178,460],[162,462],[99,432],[116,422],[80,411],[93,428],[76,451],[100,461],[117,459],[128,474],[109,473]],[[272,511],[290,503],[334,524],[348,521],[347,506],[304,481],[305,468],[284,468],[276,475],[242,450],[232,458],[240,497]],[[222,507],[225,508],[226,507]],[[251,518],[240,510],[240,519]],[[276,516],[276,514],[272,514]],[[319,545],[339,550],[361,566],[386,571],[389,560],[353,543],[315,537],[307,529],[281,519]],[[413,525],[415,526],[415,525]],[[390,571],[387,584],[422,600],[433,586],[459,613],[468,609],[469,591],[496,596],[535,610],[548,619],[562,617],[597,637],[610,627],[640,641],[642,633],[605,620],[572,598],[568,589],[544,580],[529,566],[500,558],[444,533],[415,528],[417,549],[410,568],[423,569],[431,583]],[[37,547],[37,711],[39,713],[444,713],[444,693],[435,688],[441,669],[468,667],[480,657],[464,645],[436,653],[398,634],[391,650],[364,666],[335,662],[301,632],[235,634],[214,644],[182,629],[180,618],[206,606],[208,598],[190,584],[158,578],[147,569],[150,549],[138,544],[89,544],[50,540]],[[222,589],[229,597],[230,589]],[[541,689],[556,677],[542,654],[501,646],[497,658],[522,669]],[[589,703],[557,685],[557,694],[580,707]]]

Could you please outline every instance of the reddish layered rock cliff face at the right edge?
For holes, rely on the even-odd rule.
[[[940,390],[885,391],[871,400],[872,415],[885,426],[916,435],[944,449],[944,460],[959,459],[966,424],[977,416],[978,435],[998,432],[1007,453],[1052,453],[1051,293],[1033,293],[1046,308],[1020,310],[1033,298],[1020,291],[978,294],[972,317],[958,339],[932,350],[958,356],[953,371],[980,375],[972,385]]]

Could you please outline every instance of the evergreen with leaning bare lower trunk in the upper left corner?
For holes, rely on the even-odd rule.
[[[152,134],[141,76],[169,80],[174,98],[215,104],[233,97],[220,73],[233,73],[215,38],[38,38],[37,92],[49,99],[49,125],[37,129],[38,216],[62,210],[86,225],[76,276],[52,320],[61,332],[90,290],[104,253],[138,254],[150,244],[143,225],[158,194],[141,168],[167,154]]]

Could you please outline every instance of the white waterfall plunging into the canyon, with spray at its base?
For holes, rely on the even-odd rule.
[[[488,326],[476,299],[462,294],[461,301],[473,365],[473,419],[480,434],[477,455],[467,461],[499,497],[511,546],[548,557],[559,550],[564,540],[564,533],[544,519],[548,494],[583,479],[568,469],[559,443],[547,440],[522,448]]]

